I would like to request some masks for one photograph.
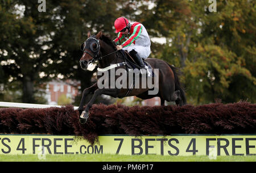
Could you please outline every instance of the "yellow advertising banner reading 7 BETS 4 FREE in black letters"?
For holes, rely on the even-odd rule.
[[[256,155],[256,134],[82,137],[0,134],[2,154]]]

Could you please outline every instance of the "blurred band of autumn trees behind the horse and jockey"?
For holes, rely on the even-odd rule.
[[[90,30],[108,32],[119,16],[143,23],[150,57],[180,67],[188,103],[256,100],[255,1],[60,0],[39,12],[33,0],[0,0],[0,98],[44,103],[44,83],[58,75],[92,85],[95,71],[79,66]],[[161,38],[161,43],[154,41]],[[79,99],[77,99],[79,100]],[[77,101],[79,102],[79,101]]]

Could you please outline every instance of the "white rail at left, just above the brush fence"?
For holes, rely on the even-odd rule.
[[[11,108],[50,108],[50,107],[58,107],[58,108],[60,108],[61,106],[48,105],[48,104],[0,102],[0,107],[11,107]],[[74,106],[74,109],[78,109],[78,107]]]

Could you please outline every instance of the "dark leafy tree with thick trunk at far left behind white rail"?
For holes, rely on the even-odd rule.
[[[53,23],[51,15],[38,12],[35,1],[4,1],[1,4],[2,69],[9,82],[19,81],[22,101],[35,103],[35,85],[43,80],[39,73],[51,63],[49,49]],[[51,5],[48,6],[52,10]],[[6,77],[5,76],[5,77]]]

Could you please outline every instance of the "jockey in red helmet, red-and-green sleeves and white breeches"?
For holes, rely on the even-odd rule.
[[[114,26],[115,33],[118,33],[118,38],[114,41],[121,44],[117,45],[117,49],[127,50],[141,69],[145,69],[142,58],[146,59],[150,55],[151,45],[146,28],[139,22],[129,23],[122,17],[115,20]]]

